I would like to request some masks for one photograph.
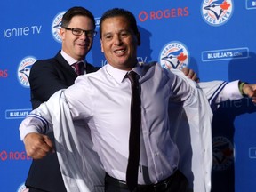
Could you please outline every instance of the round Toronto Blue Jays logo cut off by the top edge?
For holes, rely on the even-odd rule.
[[[227,23],[233,7],[232,0],[204,0],[201,12],[207,24],[217,27]]]

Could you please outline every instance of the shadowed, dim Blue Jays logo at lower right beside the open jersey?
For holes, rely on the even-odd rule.
[[[234,147],[226,137],[212,138],[212,169],[215,171],[227,170],[234,161]]]

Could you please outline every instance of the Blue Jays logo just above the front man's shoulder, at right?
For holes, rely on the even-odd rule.
[[[188,49],[180,42],[165,44],[159,56],[161,66],[168,69],[188,67],[188,59]]]

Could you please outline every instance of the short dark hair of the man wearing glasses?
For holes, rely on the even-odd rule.
[[[82,6],[75,6],[68,9],[68,11],[65,12],[65,14],[63,15],[62,21],[61,21],[61,28],[67,28],[68,24],[70,23],[70,20],[77,15],[88,17],[89,19],[92,20],[94,28],[96,27],[95,19],[92,12],[90,12],[89,10],[85,9]]]

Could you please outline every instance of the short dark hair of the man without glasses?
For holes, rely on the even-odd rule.
[[[130,27],[132,28],[132,31],[135,35],[139,34],[139,30],[137,27],[137,22],[132,14],[132,12],[129,12],[127,10],[124,10],[122,8],[114,8],[110,9],[107,12],[103,13],[102,17],[100,18],[100,38],[101,38],[101,28],[102,28],[102,22],[108,18],[118,17],[122,16],[126,20],[128,20]]]

